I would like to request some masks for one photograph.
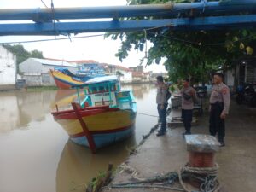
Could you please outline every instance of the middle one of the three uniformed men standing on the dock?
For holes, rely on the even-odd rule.
[[[182,119],[185,127],[184,135],[191,134],[191,122],[195,102],[198,102],[196,91],[189,85],[189,79],[183,79],[182,95]]]

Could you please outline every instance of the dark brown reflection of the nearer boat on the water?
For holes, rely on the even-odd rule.
[[[99,172],[106,171],[108,163],[118,166],[128,155],[127,148],[134,146],[135,138],[129,139],[104,148],[91,154],[89,148],[81,147],[70,140],[65,145],[61,154],[56,173],[56,191],[69,192],[84,191],[84,183],[88,183]]]

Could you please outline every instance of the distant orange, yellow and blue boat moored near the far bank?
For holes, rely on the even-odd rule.
[[[104,76],[105,71],[97,64],[83,64],[79,66],[76,74],[65,67],[56,67],[55,70],[50,70],[50,74],[58,88],[70,89],[73,86],[84,84],[89,79]]]

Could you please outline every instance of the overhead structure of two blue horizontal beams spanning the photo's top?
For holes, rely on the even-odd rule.
[[[195,3],[84,8],[0,9],[0,36],[133,32],[158,27],[169,27],[172,30],[219,30],[254,26],[256,26],[256,0],[214,2],[201,0]]]

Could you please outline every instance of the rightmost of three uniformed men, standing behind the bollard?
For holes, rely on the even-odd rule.
[[[225,122],[230,108],[230,89],[223,83],[224,75],[214,73],[212,93],[210,96],[210,134],[218,135],[220,147],[224,147]]]

